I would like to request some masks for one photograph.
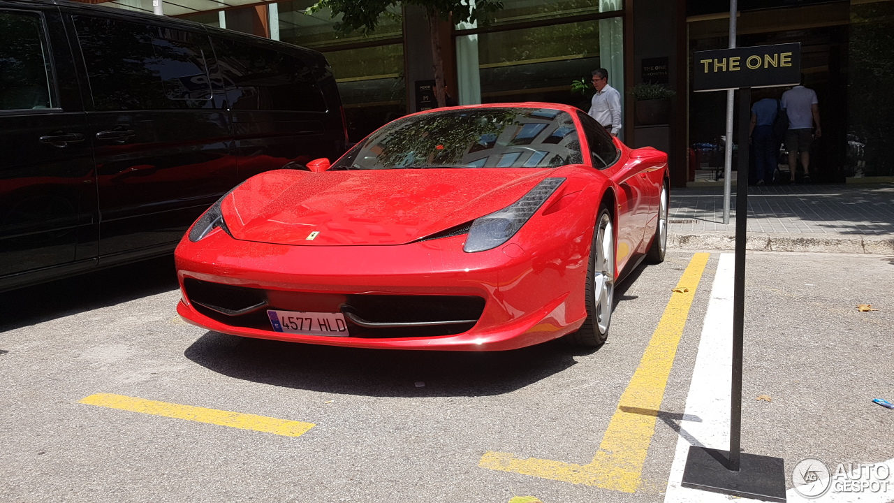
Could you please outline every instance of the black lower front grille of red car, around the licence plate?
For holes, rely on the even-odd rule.
[[[272,330],[268,309],[281,311],[350,312],[368,324],[428,323],[470,320],[466,323],[415,327],[361,327],[347,320],[350,337],[439,337],[472,328],[485,309],[477,295],[311,294],[270,291],[186,278],[183,286],[196,310],[233,327]],[[324,300],[323,303],[320,300]],[[233,311],[250,312],[232,315]],[[230,314],[228,314],[228,312]]]

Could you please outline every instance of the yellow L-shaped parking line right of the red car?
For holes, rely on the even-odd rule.
[[[478,466],[603,489],[623,492],[637,490],[642,483],[645,455],[655,432],[655,421],[661,410],[677,345],[710,256],[710,253],[696,253],[689,261],[671,294],[671,301],[664,309],[662,320],[645,348],[637,371],[620,396],[618,408],[611,416],[593,461],[587,465],[576,465],[489,451],[481,457]]]

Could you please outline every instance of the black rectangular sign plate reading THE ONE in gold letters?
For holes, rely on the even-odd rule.
[[[699,51],[692,60],[696,91],[791,86],[801,81],[801,44]]]

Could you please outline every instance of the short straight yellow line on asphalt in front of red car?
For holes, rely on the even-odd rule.
[[[81,404],[98,405],[122,411],[135,413],[149,413],[186,421],[207,422],[241,430],[263,431],[285,437],[300,437],[302,434],[316,426],[312,422],[289,421],[276,419],[253,413],[232,413],[205,407],[191,405],[168,404],[156,402],[145,398],[133,396],[113,395],[111,393],[97,393],[80,400]]]

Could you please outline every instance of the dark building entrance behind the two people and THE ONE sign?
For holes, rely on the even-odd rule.
[[[723,7],[712,4],[689,5],[690,55],[693,51],[728,45],[729,13],[705,13]],[[894,175],[894,165],[883,155],[894,147],[894,130],[890,121],[882,118],[894,115],[894,101],[881,93],[894,85],[890,70],[894,63],[894,38],[889,35],[870,42],[866,36],[867,31],[890,33],[894,28],[894,2],[800,1],[790,3],[796,5],[791,7],[759,8],[763,4],[739,2],[742,11],[738,17],[738,46],[800,42],[804,85],[816,92],[822,124],[822,136],[814,137],[810,147],[811,183],[843,183],[848,178]],[[753,90],[752,100],[778,99],[785,90]],[[690,93],[688,145],[695,155],[690,169],[696,169],[690,181],[716,179],[720,173],[727,144],[723,138],[725,117],[726,93]],[[734,133],[734,169],[741,145],[743,142]],[[780,145],[777,160],[783,174],[790,169],[797,182],[802,180],[803,167],[800,162],[789,166],[784,144]],[[754,169],[751,171],[750,183],[755,183]]]

